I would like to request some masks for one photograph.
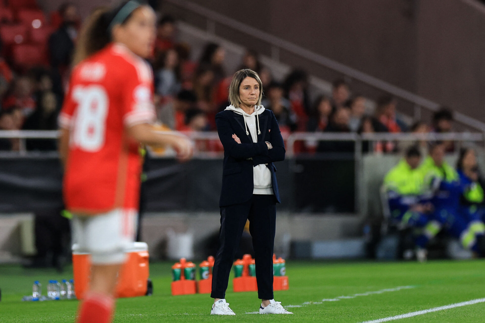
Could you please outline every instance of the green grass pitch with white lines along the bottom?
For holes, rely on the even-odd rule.
[[[382,292],[339,301],[288,308],[293,315],[245,314],[258,311],[256,292],[232,292],[227,302],[236,316],[209,315],[212,300],[208,294],[171,296],[172,263],[151,263],[152,296],[119,299],[115,323],[142,322],[362,322],[421,309],[485,297],[485,261],[416,262],[302,262],[288,261],[290,290],[275,292],[282,305],[321,302],[353,295],[412,285],[412,289]],[[49,279],[70,278],[66,270],[26,270],[17,265],[0,265],[0,323],[74,322],[78,301],[21,302],[22,295],[40,280],[43,293]],[[232,278],[232,277],[231,277]],[[394,322],[485,322],[485,303],[428,313]]]

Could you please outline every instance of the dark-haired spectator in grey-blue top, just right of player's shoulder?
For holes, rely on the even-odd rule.
[[[178,52],[171,48],[162,52],[155,64],[157,93],[164,96],[175,96],[180,91],[180,63]],[[159,66],[156,66],[159,65]]]

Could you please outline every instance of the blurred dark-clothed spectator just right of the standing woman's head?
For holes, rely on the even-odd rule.
[[[266,89],[266,98],[261,104],[273,111],[281,132],[295,131],[297,127],[296,115],[290,109],[290,101],[283,96],[283,85],[272,82]]]

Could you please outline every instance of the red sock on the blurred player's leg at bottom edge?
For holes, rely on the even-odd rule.
[[[113,297],[97,292],[86,294],[79,307],[77,323],[110,323],[113,316]]]

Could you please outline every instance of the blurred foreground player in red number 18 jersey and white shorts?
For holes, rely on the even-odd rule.
[[[59,117],[65,165],[64,199],[73,213],[74,240],[91,253],[91,283],[79,323],[108,323],[125,250],[136,229],[141,158],[139,143],[170,145],[181,160],[189,139],[158,134],[148,57],[155,13],[131,0],[98,10],[81,32],[69,89]]]

